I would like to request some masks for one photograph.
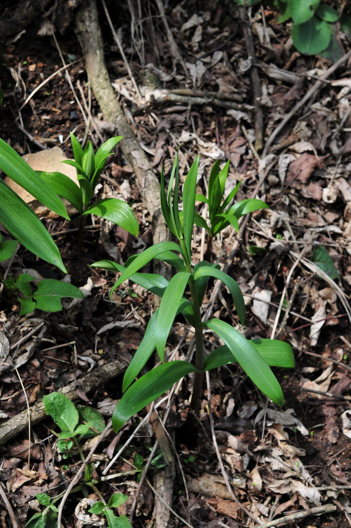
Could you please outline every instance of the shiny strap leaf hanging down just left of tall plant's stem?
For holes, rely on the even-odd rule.
[[[164,361],[164,347],[168,334],[190,276],[190,273],[179,271],[171,278],[162,296],[155,328],[156,349],[162,362]]]

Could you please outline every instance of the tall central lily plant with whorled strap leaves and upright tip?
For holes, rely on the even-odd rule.
[[[141,254],[130,257],[125,266],[116,262],[102,260],[92,266],[122,272],[112,291],[127,279],[161,297],[160,307],[149,320],[143,340],[138,347],[123,380],[124,394],[113,413],[115,431],[136,412],[167,391],[175,382],[190,373],[195,373],[190,409],[199,408],[202,378],[204,372],[227,363],[238,362],[249,378],[264,394],[279,406],[284,398],[278,380],[271,366],[293,367],[294,357],[289,344],[276,340],[247,340],[233,326],[224,320],[201,319],[201,304],[210,277],[219,279],[229,289],[233,297],[241,324],[245,321],[245,304],[237,282],[207,261],[192,266],[191,240],[195,225],[196,180],[199,159],[192,164],[183,186],[182,211],[179,208],[179,164],[175,158],[167,192],[164,188],[163,171],[161,173],[161,208],[169,229],[178,240],[159,242],[145,249]],[[172,191],[174,185],[174,192]],[[168,281],[156,274],[145,274],[139,270],[152,259],[157,258],[170,263],[177,270]],[[174,318],[182,314],[195,329],[195,362],[167,361],[164,350]],[[210,328],[224,342],[207,355],[204,343],[204,329]],[[135,378],[144,368],[147,360],[156,349],[161,365]]]

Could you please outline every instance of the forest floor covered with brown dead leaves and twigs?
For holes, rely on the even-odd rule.
[[[127,4],[134,6],[135,12],[131,14]],[[280,525],[299,528],[351,526],[351,62],[344,61],[332,72],[271,141],[273,131],[331,63],[319,56],[302,56],[293,48],[287,29],[276,23],[273,12],[253,11],[251,39],[262,93],[258,115],[262,110],[264,124],[260,145],[251,78],[254,68],[250,68],[244,23],[234,3],[201,2],[194,14],[190,3],[171,2],[166,18],[161,16],[158,2],[145,3],[140,13],[136,4],[124,3],[118,13],[110,13],[133,78],[102,7],[100,24],[116,97],[155,174],[159,176],[162,165],[169,174],[181,146],[182,175],[200,154],[198,186],[202,192],[214,160],[224,163],[229,159],[227,192],[242,181],[237,196],[244,199],[252,196],[260,183],[257,196],[270,206],[251,215],[241,238],[227,228],[213,245],[211,258],[224,262],[233,243],[238,242],[230,275],[245,294],[245,326],[238,325],[225,289],[216,297],[212,313],[240,328],[246,337],[274,336],[287,341],[296,362],[295,369],[274,370],[285,396],[282,409],[267,401],[239,367],[211,371],[210,406],[204,384],[198,435],[191,439],[177,436],[191,389],[191,383],[183,382],[168,402],[166,428],[175,446],[175,452],[173,447],[171,451],[176,473],[172,481],[174,513],[167,523],[194,528],[273,526],[283,517]],[[17,38],[3,42],[1,137],[21,155],[37,152],[42,145],[43,149],[59,146],[71,157],[69,133],[84,137],[86,122],[68,74],[82,106],[90,105],[95,118],[88,138],[99,144],[97,130],[104,139],[112,134],[106,133],[108,127],[89,90],[72,22],[61,33],[57,15],[57,41],[45,32],[44,22],[40,18],[23,34],[14,35]],[[340,42],[346,53],[349,42]],[[67,68],[60,70],[62,58]],[[36,310],[24,317],[19,315],[16,298],[1,299],[2,358],[6,364],[6,356],[11,357],[16,366],[0,367],[4,426],[7,419],[26,410],[26,397],[32,406],[44,394],[70,383],[76,383],[80,399],[76,403],[98,409],[106,423],[121,398],[123,369],[142,339],[154,299],[132,284],[122,285],[109,298],[116,275],[89,268],[89,264],[101,259],[125,262],[136,250],[150,245],[152,225],[133,172],[119,150],[109,159],[99,192],[133,203],[140,237],[135,240],[120,228],[95,219],[87,226],[84,252],[78,254],[78,216],[73,215],[70,223],[58,218],[44,220],[72,284],[86,286],[89,293],[81,304],[69,307],[66,303],[62,312]],[[3,240],[10,239],[6,230],[0,229]],[[198,230],[193,240],[196,263],[206,249],[204,233]],[[316,262],[324,262],[325,274],[318,274]],[[1,274],[8,270],[14,277],[35,270],[44,278],[63,278],[56,268],[24,248],[16,253],[10,268],[8,262],[0,266]],[[204,308],[210,296],[211,288]],[[192,341],[179,318],[169,336],[168,355],[180,337],[177,359],[186,356]],[[213,350],[215,336],[208,333],[206,337],[208,351]],[[121,374],[86,393],[79,380],[113,361],[122,364]],[[167,402],[160,407],[161,416],[166,406]],[[221,474],[209,412],[237,502]],[[155,445],[151,425],[146,423],[131,438],[145,413],[131,419],[117,436],[110,431],[100,442],[93,459],[94,477],[99,480],[109,461],[129,441],[107,472],[116,476],[96,486],[106,502],[113,493],[127,495],[116,515],[118,511],[118,515],[130,516],[135,527],[157,528],[164,526],[155,509],[155,503],[160,502],[155,493],[158,474],[167,473],[162,454],[153,452],[146,475],[143,469]],[[62,458],[57,450],[58,432],[48,416],[33,423],[29,461],[27,426],[2,441],[2,526],[16,526],[16,522],[25,526],[43,510],[36,494],[59,495],[77,473],[79,455],[72,450],[69,458]],[[90,447],[85,446],[84,452]],[[80,488],[64,505],[63,525],[104,526],[103,520],[91,520],[84,509],[87,492],[84,486]],[[8,516],[6,497],[14,517]],[[49,520],[46,525],[51,526]]]

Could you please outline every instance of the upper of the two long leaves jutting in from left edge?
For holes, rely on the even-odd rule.
[[[25,163],[24,159],[22,159],[21,156],[2,139],[0,139],[0,169],[2,169],[11,180],[21,185],[21,187],[39,200],[39,202],[47,206],[47,208],[69,220],[69,216],[63,203],[58,195],[52,190],[50,185],[44,182],[42,178],[40,178],[38,174],[36,174],[27,163]],[[3,185],[5,185],[4,182]],[[6,203],[2,194],[0,194],[0,203],[2,206]],[[14,211],[16,211],[16,209],[12,210],[13,215]],[[1,219],[0,221],[2,222]]]

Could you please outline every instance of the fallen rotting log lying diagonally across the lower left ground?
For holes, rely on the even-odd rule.
[[[89,372],[84,378],[77,381],[73,381],[63,389],[59,389],[58,392],[66,395],[70,400],[78,400],[79,389],[84,392],[89,392],[93,389],[97,389],[103,385],[106,381],[114,378],[118,374],[122,374],[126,369],[126,365],[121,361],[115,360],[112,363],[99,366],[92,372]],[[47,414],[45,413],[44,403],[42,401],[37,402],[30,409],[31,424],[40,422]],[[0,427],[0,445],[5,444],[11,438],[17,436],[20,432],[24,431],[28,427],[28,412],[22,411],[20,414],[10,418]]]

